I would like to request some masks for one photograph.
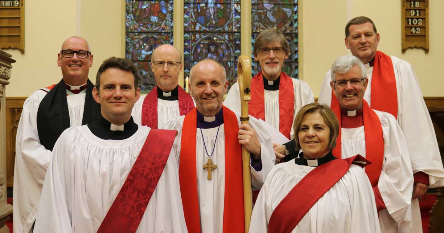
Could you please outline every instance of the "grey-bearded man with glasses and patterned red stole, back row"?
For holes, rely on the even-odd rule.
[[[290,47],[278,30],[269,28],[259,33],[253,55],[259,61],[261,71],[251,79],[249,114],[261,118],[291,139],[293,119],[301,107],[314,102],[313,92],[304,81],[292,79],[281,71],[284,60],[290,55]],[[240,112],[240,103],[239,86],[234,83],[224,105]]]

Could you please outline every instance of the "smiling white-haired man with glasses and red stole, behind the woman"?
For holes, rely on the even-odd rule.
[[[353,55],[336,59],[330,87],[339,105],[332,110],[341,126],[333,155],[361,154],[375,194],[381,232],[411,227],[413,174],[407,144],[393,115],[373,110],[364,100],[368,85],[365,67]]]

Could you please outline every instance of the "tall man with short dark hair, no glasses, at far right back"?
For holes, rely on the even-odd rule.
[[[444,186],[444,168],[413,67],[402,59],[377,51],[379,41],[375,24],[365,16],[356,17],[345,26],[345,46],[367,70],[369,90],[364,99],[373,109],[395,116],[407,141],[414,177],[412,232],[422,232],[418,197],[424,195],[428,187]],[[330,81],[328,71],[318,101],[334,107],[337,101],[332,98]]]

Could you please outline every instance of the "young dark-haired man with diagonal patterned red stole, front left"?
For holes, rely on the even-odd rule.
[[[163,144],[147,146],[150,134],[159,131],[138,126],[131,117],[131,109],[140,97],[137,80],[138,71],[131,61],[111,57],[103,62],[93,90],[94,99],[101,105],[102,116],[86,126],[65,130],[56,142],[43,186],[35,232],[93,233],[122,222],[125,230],[132,227],[140,233],[186,232],[174,150]],[[161,134],[166,131],[170,130],[161,130]],[[172,135],[171,143],[174,132]],[[161,153],[158,148],[165,150],[161,170],[155,170],[151,164],[132,170],[135,163],[140,164],[137,159],[142,153],[154,151],[148,154],[149,157],[155,156]],[[143,158],[147,160],[146,156]],[[158,175],[157,185],[155,181],[145,182],[144,176],[137,176],[142,173],[142,168],[151,171],[151,177]],[[125,189],[122,186],[127,184],[129,174],[136,174],[135,180],[140,181],[129,186],[136,192],[131,192],[127,202],[117,208],[117,214],[110,216],[117,217],[117,221],[101,225],[116,205],[115,200],[127,190],[128,186]],[[131,221],[135,217],[124,214],[123,209],[138,209],[137,202],[146,198],[147,192],[136,195],[137,190],[149,188],[153,188],[154,193],[147,200],[148,204],[139,208],[140,223],[133,224]],[[122,221],[125,218],[128,221]],[[117,229],[120,228],[116,226]]]

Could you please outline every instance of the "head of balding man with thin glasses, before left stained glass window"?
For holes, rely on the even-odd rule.
[[[177,87],[182,71],[182,54],[169,44],[157,47],[151,55],[151,70],[157,86],[162,91],[172,91]]]

